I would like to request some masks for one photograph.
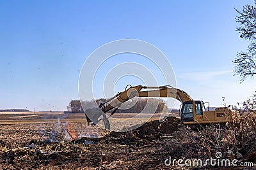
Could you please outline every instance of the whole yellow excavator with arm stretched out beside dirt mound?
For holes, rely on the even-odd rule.
[[[98,108],[87,109],[85,115],[88,125],[96,125],[102,120],[105,129],[110,129],[108,118],[118,110],[122,103],[134,97],[172,97],[177,99],[182,103],[180,119],[185,125],[225,124],[227,122],[229,111],[227,107],[220,107],[216,108],[214,111],[209,111],[209,103],[194,101],[186,92],[172,86],[147,87],[137,85],[132,87],[131,85],[127,85],[127,87],[124,92],[119,92],[104,103],[99,103]],[[205,110],[205,104],[208,104],[208,110]],[[109,111],[111,111],[111,114],[107,116],[106,113]]]

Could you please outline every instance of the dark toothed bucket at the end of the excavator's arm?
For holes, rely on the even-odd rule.
[[[89,126],[94,126],[98,124],[100,120],[102,120],[105,129],[110,130],[109,120],[106,114],[103,113],[99,108],[87,109],[85,111],[85,117]]]

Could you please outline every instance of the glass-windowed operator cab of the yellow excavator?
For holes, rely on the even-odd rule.
[[[203,111],[205,111],[203,101],[186,101],[182,104],[182,108],[180,110],[180,118],[182,122],[194,122],[194,117],[202,116]]]

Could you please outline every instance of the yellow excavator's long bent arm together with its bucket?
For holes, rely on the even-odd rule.
[[[129,85],[127,85],[127,87],[128,86]],[[174,99],[177,99],[181,103],[184,103],[186,101],[192,101],[191,97],[186,92],[171,86],[147,87],[137,85],[134,87],[129,87],[129,89],[127,89],[127,87],[125,88],[124,92],[120,92],[116,94],[116,96],[108,99],[108,101],[100,103],[99,108],[86,110],[85,115],[88,124],[95,125],[100,120],[102,120],[104,122],[105,128],[110,129],[109,121],[105,113],[113,110],[111,112],[111,115],[113,115],[122,103],[128,101],[129,99],[132,99],[133,97],[172,97]],[[100,119],[101,115],[102,118]]]

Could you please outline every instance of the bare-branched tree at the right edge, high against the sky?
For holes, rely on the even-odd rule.
[[[243,6],[242,11],[236,11],[238,13],[236,22],[241,24],[236,31],[241,34],[240,38],[250,42],[247,52],[237,52],[233,61],[236,64],[234,72],[241,76],[241,81],[244,81],[248,77],[256,76],[256,8],[247,4]]]

